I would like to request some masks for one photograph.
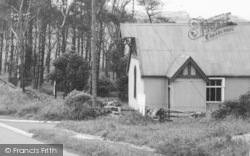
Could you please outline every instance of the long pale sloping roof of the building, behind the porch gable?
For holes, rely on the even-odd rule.
[[[166,76],[181,54],[189,55],[207,76],[250,76],[250,23],[205,41],[191,40],[187,24],[122,24],[122,37],[135,37],[143,76]]]

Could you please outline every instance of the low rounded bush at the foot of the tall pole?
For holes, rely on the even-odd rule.
[[[74,90],[65,100],[65,115],[71,120],[94,119],[108,112],[102,107],[103,104],[97,100],[97,107],[92,106],[91,95],[85,92]]]

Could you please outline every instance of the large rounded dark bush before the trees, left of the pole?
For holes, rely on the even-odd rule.
[[[63,83],[66,94],[74,89],[83,90],[87,87],[89,65],[80,55],[65,53],[54,60],[53,65],[55,70],[48,78]]]

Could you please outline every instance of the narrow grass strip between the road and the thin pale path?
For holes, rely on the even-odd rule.
[[[73,150],[82,156],[156,156],[158,154],[134,149],[101,140],[82,140],[72,136],[73,133],[58,129],[38,129],[31,131],[34,138],[47,143],[64,144],[65,149]]]

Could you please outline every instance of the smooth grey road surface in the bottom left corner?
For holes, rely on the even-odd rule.
[[[44,143],[0,127],[0,144],[44,144]],[[69,153],[64,150],[63,156],[77,156],[77,155]]]

